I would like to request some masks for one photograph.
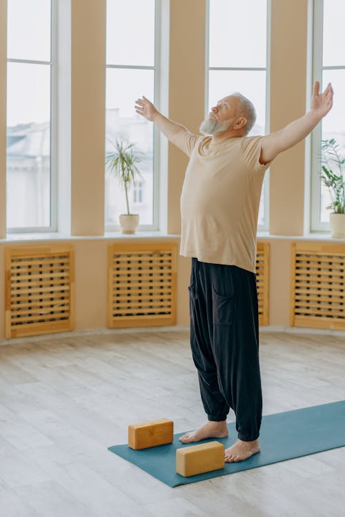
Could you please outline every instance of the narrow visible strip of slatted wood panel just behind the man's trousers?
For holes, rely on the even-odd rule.
[[[257,301],[259,303],[259,325],[268,325],[268,267],[270,261],[270,245],[257,243]]]

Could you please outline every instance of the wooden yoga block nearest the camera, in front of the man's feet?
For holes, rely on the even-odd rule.
[[[201,443],[176,451],[176,472],[185,478],[224,469],[225,447],[219,442]]]

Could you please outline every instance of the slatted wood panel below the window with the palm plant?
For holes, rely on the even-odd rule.
[[[175,325],[176,276],[176,243],[110,245],[108,327]]]

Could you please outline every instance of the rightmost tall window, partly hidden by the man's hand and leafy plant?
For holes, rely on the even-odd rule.
[[[332,83],[335,92],[333,108],[312,136],[311,160],[311,229],[329,230],[330,204],[328,190],[322,185],[320,172],[321,141],[334,138],[345,158],[345,45],[344,0],[314,0],[313,79],[322,90]]]

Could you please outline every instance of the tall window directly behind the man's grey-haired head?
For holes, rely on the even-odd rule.
[[[208,0],[208,95],[206,111],[219,99],[240,92],[255,105],[250,134],[266,131],[268,0]],[[268,230],[268,182],[259,208],[258,228]]]

